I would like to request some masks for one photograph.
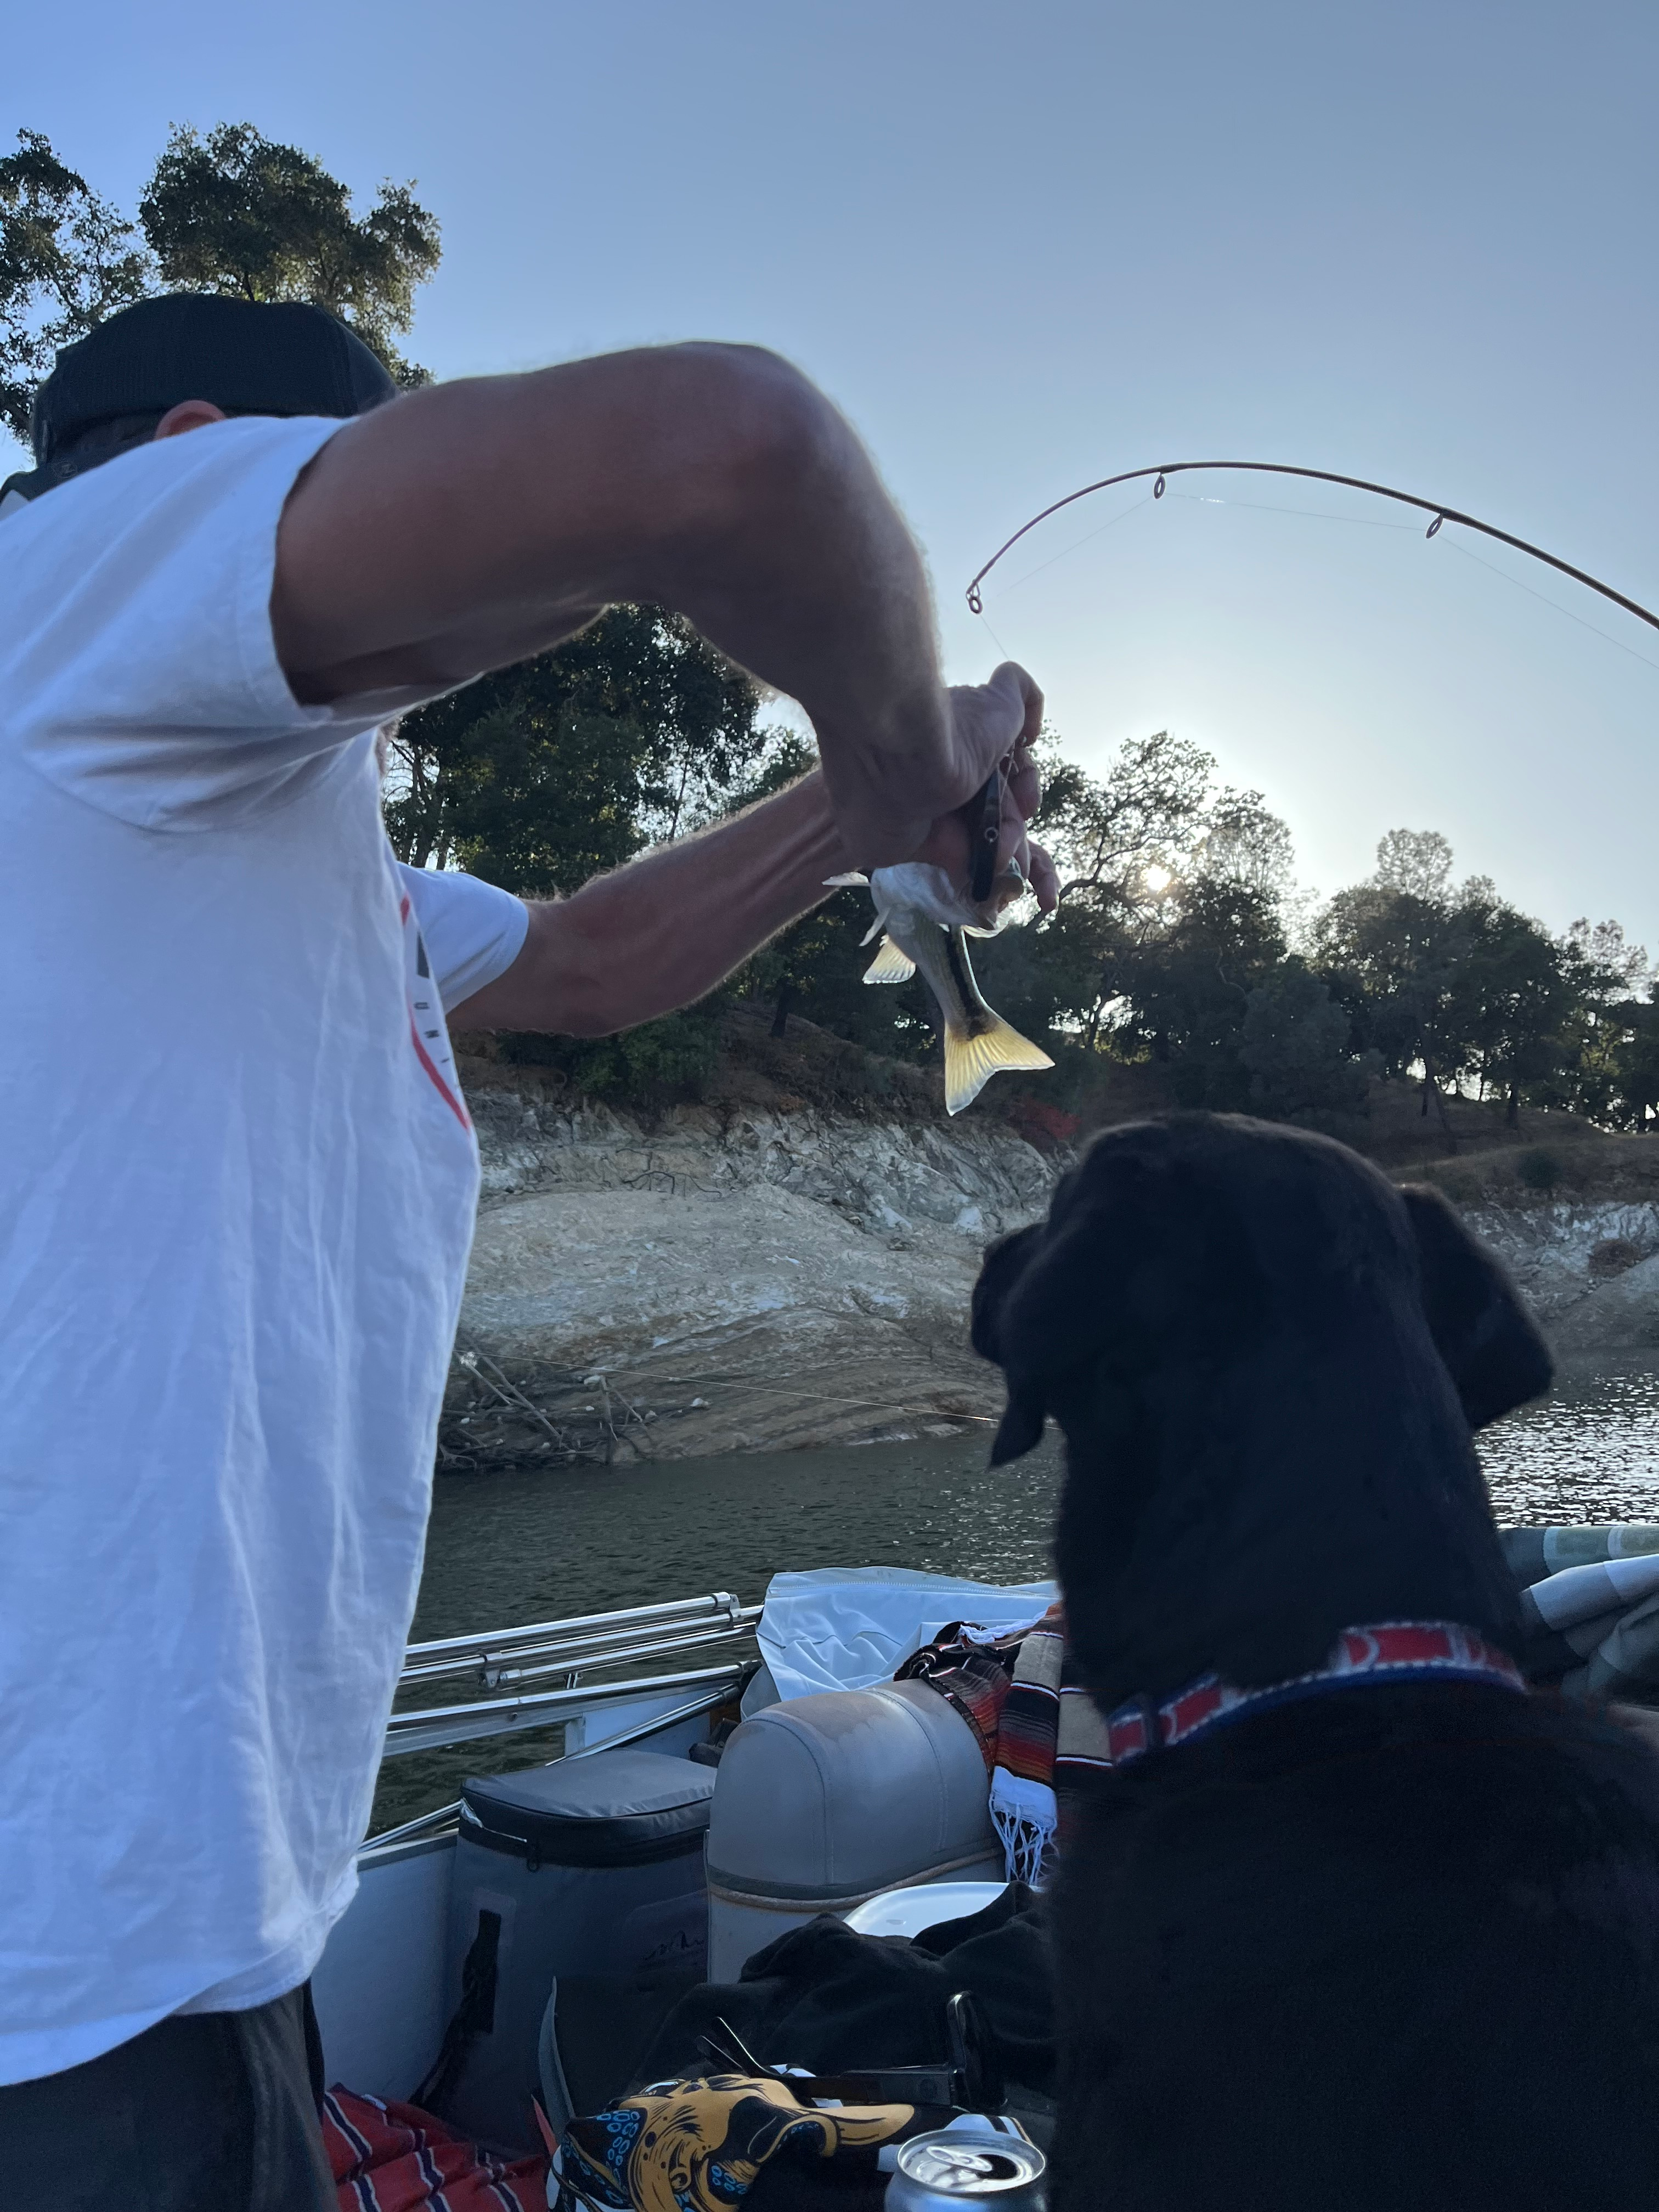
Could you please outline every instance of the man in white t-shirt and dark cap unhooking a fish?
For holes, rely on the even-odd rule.
[[[184,436],[188,431],[188,436]],[[312,307],[58,356],[0,493],[0,2168],[334,2203],[303,1984],[354,1887],[478,1192],[447,1018],[595,1035],[927,854],[1042,701],[945,690],[843,418],[741,347],[396,396]],[[568,900],[400,867],[374,730],[613,599],[823,770]],[[27,2177],[27,2179],[24,2179]]]

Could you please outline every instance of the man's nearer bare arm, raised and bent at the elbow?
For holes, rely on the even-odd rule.
[[[940,686],[922,560],[869,456],[752,347],[436,385],[349,422],[288,500],[272,626],[321,701],[462,681],[615,599],[690,615],[801,701],[858,865],[909,858],[1037,732],[1022,670]]]

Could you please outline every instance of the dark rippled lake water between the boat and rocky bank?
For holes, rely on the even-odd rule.
[[[1051,1442],[987,1469],[989,1431],[852,1451],[754,1451],[635,1469],[445,1475],[414,1635],[511,1628],[734,1590],[781,1568],[918,1566],[982,1582],[1048,1568]],[[1568,1367],[1553,1396],[1480,1440],[1500,1522],[1659,1520],[1659,1376]],[[387,1761],[374,1827],[456,1796],[462,1774],[531,1765],[557,1736]]]

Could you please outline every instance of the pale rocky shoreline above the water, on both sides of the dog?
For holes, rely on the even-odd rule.
[[[688,1106],[648,1124],[489,1086],[471,1104],[484,1194],[440,1464],[697,1458],[995,1418],[967,1347],[973,1276],[987,1239],[1042,1212],[1068,1146],[1037,1150],[989,1117]],[[1564,1354],[1659,1347],[1659,1146],[1648,1197],[1628,1188],[1632,1157],[1648,1181],[1644,1139],[1599,1139],[1595,1159],[1619,1144],[1637,1152],[1606,1192],[1528,1188],[1509,1157],[1431,1170]]]

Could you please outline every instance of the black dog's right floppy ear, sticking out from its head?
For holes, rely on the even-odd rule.
[[[1464,1228],[1451,1201],[1427,1183],[1407,1183],[1400,1197],[1418,1243],[1433,1347],[1469,1427],[1484,1429],[1551,1387],[1551,1349],[1509,1272]]]

